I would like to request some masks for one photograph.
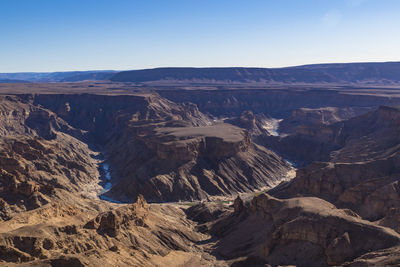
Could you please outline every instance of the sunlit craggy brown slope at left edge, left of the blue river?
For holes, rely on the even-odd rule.
[[[0,140],[0,216],[36,209],[51,199],[79,192],[98,171],[89,150],[76,139],[60,136],[14,136]]]

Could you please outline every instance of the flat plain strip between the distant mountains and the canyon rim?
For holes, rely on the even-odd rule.
[[[0,95],[18,94],[98,94],[98,95],[138,95],[172,90],[191,91],[272,91],[272,92],[335,92],[347,95],[367,95],[381,97],[400,97],[399,86],[395,85],[336,85],[336,84],[212,84],[193,85],[150,85],[143,83],[121,83],[110,81],[87,82],[43,82],[43,83],[0,83]]]

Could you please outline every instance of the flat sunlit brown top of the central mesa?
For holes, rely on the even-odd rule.
[[[220,123],[203,127],[165,127],[156,129],[157,135],[175,137],[174,141],[188,140],[198,137],[216,137],[225,142],[240,142],[244,137],[244,130],[227,123]]]

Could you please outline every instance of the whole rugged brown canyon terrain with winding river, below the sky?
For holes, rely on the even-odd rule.
[[[322,67],[0,84],[0,264],[398,266],[397,80]]]

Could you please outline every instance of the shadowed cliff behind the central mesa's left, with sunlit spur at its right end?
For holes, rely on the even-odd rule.
[[[55,112],[75,128],[88,132],[91,142],[104,144],[129,122],[184,120],[196,126],[209,124],[209,118],[193,104],[178,105],[156,94],[35,95],[25,96],[34,105]]]

